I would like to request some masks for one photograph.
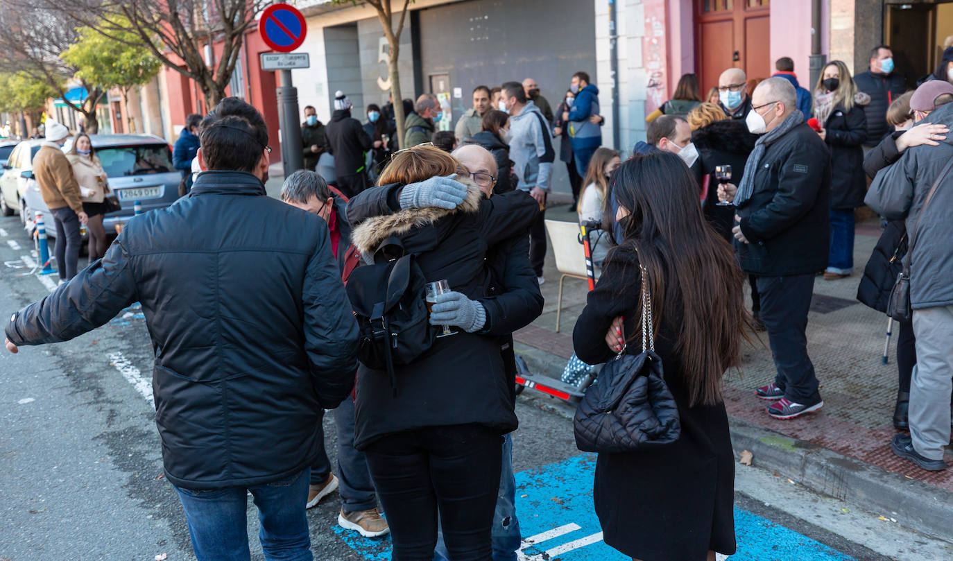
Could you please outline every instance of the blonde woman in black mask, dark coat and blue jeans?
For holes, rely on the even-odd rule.
[[[840,60],[827,63],[814,89],[818,134],[831,150],[831,234],[824,280],[849,276],[854,270],[854,209],[863,206],[863,148],[870,96],[857,90]]]

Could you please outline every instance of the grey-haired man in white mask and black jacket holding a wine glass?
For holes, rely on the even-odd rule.
[[[768,414],[790,419],[824,404],[805,331],[815,274],[827,266],[830,151],[796,109],[790,82],[768,78],[751,97],[748,129],[764,134],[737,194],[726,198],[738,207],[735,246],[741,269],[758,277],[760,318],[778,369],[756,394],[775,401]]]

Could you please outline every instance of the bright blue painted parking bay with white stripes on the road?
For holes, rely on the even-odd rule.
[[[521,559],[529,561],[629,561],[602,541],[593,507],[594,454],[517,473],[517,515],[523,532]],[[633,506],[633,508],[636,508]],[[387,561],[390,538],[366,539],[335,531],[365,559]],[[738,552],[731,561],[855,561],[796,531],[735,509]]]

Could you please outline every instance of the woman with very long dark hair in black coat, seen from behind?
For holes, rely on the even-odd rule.
[[[741,360],[750,316],[734,251],[701,214],[698,187],[675,154],[657,151],[613,175],[622,230],[573,331],[580,359],[638,354],[640,267],[655,351],[679,407],[681,434],[651,451],[600,453],[594,498],[605,542],[645,561],[735,552],[734,456],[722,376]]]

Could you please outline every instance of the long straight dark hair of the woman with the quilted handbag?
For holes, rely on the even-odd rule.
[[[656,330],[666,309],[680,315],[673,328],[691,404],[718,403],[722,375],[740,364],[741,338],[751,321],[734,250],[702,215],[698,184],[679,156],[636,154],[611,181],[618,206],[629,211],[619,221],[619,246],[639,252],[653,316],[660,318]],[[639,291],[639,285],[626,290]]]

